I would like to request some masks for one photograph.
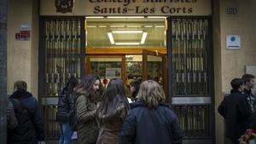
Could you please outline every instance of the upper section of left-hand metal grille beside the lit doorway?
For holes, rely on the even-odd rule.
[[[81,20],[44,21],[44,95],[58,95],[71,76],[80,78]]]

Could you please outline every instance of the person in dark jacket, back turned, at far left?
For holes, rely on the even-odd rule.
[[[29,125],[21,124],[9,132],[9,143],[11,144],[38,144],[44,143],[44,123],[41,117],[38,101],[32,94],[26,91],[27,86],[24,81],[17,81],[14,85],[15,92],[9,96],[10,101],[18,101],[20,106],[15,106],[15,112],[19,107],[26,109],[30,120]],[[15,99],[15,100],[12,100]],[[26,128],[25,128],[26,127]]]

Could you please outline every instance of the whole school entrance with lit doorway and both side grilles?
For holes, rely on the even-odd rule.
[[[214,143],[209,17],[83,17],[40,19],[39,99],[46,137],[58,138],[58,91],[71,76],[154,79],[166,92],[184,143]],[[105,83],[107,82],[107,83]]]

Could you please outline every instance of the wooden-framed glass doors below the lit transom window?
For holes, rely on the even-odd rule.
[[[153,79],[166,86],[166,55],[157,51],[143,50],[142,55],[88,55],[85,62],[86,74],[98,75],[104,87],[111,78]]]

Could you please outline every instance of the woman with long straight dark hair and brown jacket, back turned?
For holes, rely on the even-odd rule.
[[[111,79],[96,112],[101,128],[96,144],[118,144],[119,132],[129,108],[123,81]]]

